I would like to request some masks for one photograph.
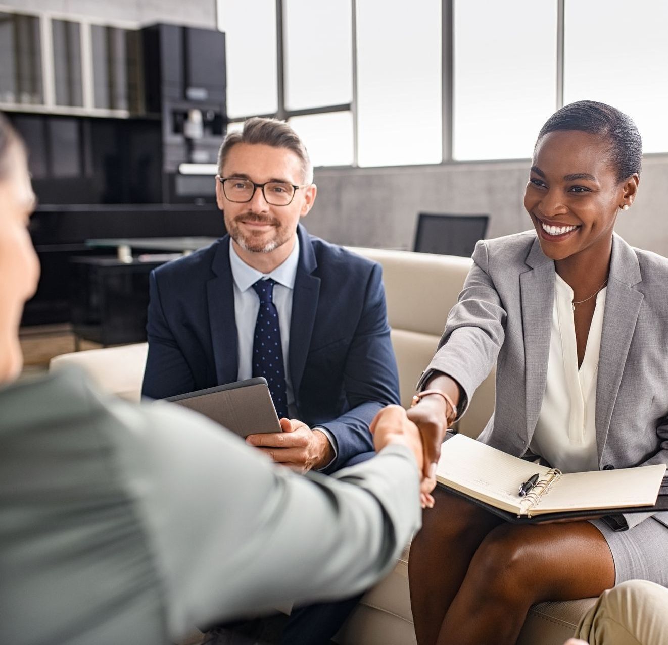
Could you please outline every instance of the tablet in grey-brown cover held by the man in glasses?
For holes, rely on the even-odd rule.
[[[170,396],[164,401],[195,410],[240,437],[283,432],[267,380],[261,376]]]

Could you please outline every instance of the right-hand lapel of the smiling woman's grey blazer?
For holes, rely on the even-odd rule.
[[[605,294],[599,372],[596,383],[596,440],[599,466],[608,436],[635,325],[645,297],[633,285],[641,281],[638,258],[619,235],[613,236],[608,288]]]

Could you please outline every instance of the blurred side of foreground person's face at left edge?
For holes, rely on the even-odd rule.
[[[39,279],[39,262],[27,231],[35,195],[23,147],[10,144],[6,162],[9,173],[0,179],[0,383],[21,371],[21,313]]]

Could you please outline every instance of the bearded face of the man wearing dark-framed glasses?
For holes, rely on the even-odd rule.
[[[270,145],[237,143],[230,149],[220,175],[255,183],[304,183],[299,157],[291,150]],[[311,210],[315,192],[313,184],[299,188],[287,206],[274,206],[267,203],[261,189],[256,189],[251,201],[238,203],[227,199],[222,184],[216,181],[216,201],[223,211],[225,227],[242,249],[252,253],[271,253],[293,239],[299,219]]]

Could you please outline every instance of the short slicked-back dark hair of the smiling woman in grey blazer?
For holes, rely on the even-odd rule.
[[[610,157],[617,181],[640,174],[643,141],[633,119],[612,105],[598,101],[576,101],[557,110],[540,129],[538,141],[558,130],[578,130],[608,137]]]

